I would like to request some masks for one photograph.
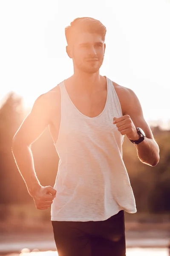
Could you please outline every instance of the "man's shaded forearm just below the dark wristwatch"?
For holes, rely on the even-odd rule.
[[[141,162],[156,166],[159,162],[159,147],[155,140],[145,137],[141,143],[135,144],[135,147]]]

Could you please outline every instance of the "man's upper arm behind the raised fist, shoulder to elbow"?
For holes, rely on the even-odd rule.
[[[150,126],[147,124],[146,120],[144,119],[141,103],[139,102],[138,97],[135,95],[133,90],[129,89],[128,99],[126,104],[126,115],[129,115],[132,119],[135,127],[140,127],[147,138],[154,139]]]

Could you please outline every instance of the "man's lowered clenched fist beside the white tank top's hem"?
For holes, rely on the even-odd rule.
[[[32,193],[35,206],[39,210],[48,209],[55,198],[56,190],[52,186],[41,186]]]

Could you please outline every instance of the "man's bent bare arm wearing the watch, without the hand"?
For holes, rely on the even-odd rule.
[[[150,166],[156,166],[159,162],[159,147],[156,143],[152,131],[144,119],[141,104],[133,90],[127,89],[124,101],[124,114],[129,115],[135,127],[140,127],[146,137],[144,141],[135,144],[138,158],[142,163]]]

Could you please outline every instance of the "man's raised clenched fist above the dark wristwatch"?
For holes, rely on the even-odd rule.
[[[140,138],[140,135],[138,134],[136,127],[129,115],[114,117],[113,124],[116,124],[118,131],[120,131],[122,135],[126,134],[128,139],[138,140]]]

